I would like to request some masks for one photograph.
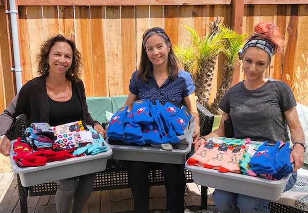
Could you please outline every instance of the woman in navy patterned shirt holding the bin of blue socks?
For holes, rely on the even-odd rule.
[[[195,99],[195,85],[191,75],[180,69],[169,37],[164,29],[155,27],[143,34],[139,69],[132,74],[125,106],[132,109],[133,102],[149,99],[153,104],[169,102],[181,108],[184,104],[195,116],[192,135],[199,139],[199,114]],[[127,161],[128,182],[134,200],[134,212],[149,211],[149,179],[152,168],[161,168],[165,180],[167,202],[166,211],[184,212],[185,175],[184,165]]]

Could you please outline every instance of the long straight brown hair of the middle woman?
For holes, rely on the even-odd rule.
[[[142,40],[142,50],[141,50],[141,60],[140,60],[140,66],[136,74],[136,79],[139,77],[142,78],[143,81],[148,81],[148,74],[153,70],[152,62],[149,60],[146,49],[145,49],[145,43],[153,36],[153,34],[159,34],[165,41],[166,45],[170,45],[170,51],[168,53],[168,69],[169,73],[171,74],[171,78],[175,78],[179,75],[180,72],[180,63],[175,55],[174,50],[172,49],[172,44],[169,42],[169,38],[165,32],[155,32],[151,31],[146,34],[146,36]]]

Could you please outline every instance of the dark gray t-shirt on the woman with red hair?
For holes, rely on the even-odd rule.
[[[291,88],[272,78],[256,90],[247,90],[243,82],[231,87],[219,103],[230,114],[234,137],[289,140],[283,112],[296,106]]]

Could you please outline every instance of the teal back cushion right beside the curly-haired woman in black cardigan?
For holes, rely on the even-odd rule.
[[[87,97],[88,112],[94,120],[106,123],[105,111],[112,111],[110,97]]]

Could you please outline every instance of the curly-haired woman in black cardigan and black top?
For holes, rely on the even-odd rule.
[[[105,130],[88,113],[85,88],[81,76],[82,60],[73,41],[62,35],[43,42],[37,55],[38,73],[28,81],[0,116],[0,152],[9,155],[10,140],[6,134],[18,115],[26,114],[27,127],[33,122],[50,126],[85,120],[100,134]],[[39,177],[37,177],[39,178]],[[56,211],[82,212],[94,186],[95,173],[60,180],[55,194]]]

